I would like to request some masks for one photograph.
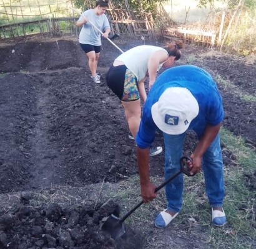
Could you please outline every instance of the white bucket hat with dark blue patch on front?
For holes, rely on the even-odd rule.
[[[192,93],[184,87],[167,88],[152,105],[155,125],[167,134],[184,133],[199,113],[199,105]]]

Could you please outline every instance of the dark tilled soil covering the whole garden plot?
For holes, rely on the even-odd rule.
[[[142,45],[141,41],[114,42],[122,50]],[[77,40],[38,38],[1,44],[0,248],[144,247],[136,227],[129,228],[126,237],[117,242],[100,230],[102,218],[117,210],[111,200],[105,205],[99,201],[96,206],[91,202],[47,205],[36,201],[36,193],[42,189],[53,195],[59,186],[114,184],[137,174],[135,144],[128,139],[122,106],[105,81],[120,52],[107,40],[103,40],[102,48],[98,65],[101,83],[96,84]],[[255,62],[249,64],[242,57],[187,45],[176,65],[184,63],[199,65],[216,79],[221,77],[236,86],[219,85],[224,127],[255,149],[255,101],[240,98],[241,93],[255,95]],[[184,154],[193,150],[196,141],[189,133]],[[155,144],[163,146],[160,132]],[[232,165],[232,153],[226,148],[223,157],[225,166]],[[164,153],[151,157],[150,174],[162,176],[163,164]],[[255,190],[256,176],[248,177],[249,187]],[[16,204],[6,205],[12,198]],[[174,229],[169,245],[209,247],[200,238],[194,238],[193,243],[193,238],[180,238],[179,229],[182,227],[176,229],[178,236]],[[154,231],[150,231],[143,236],[152,237]]]

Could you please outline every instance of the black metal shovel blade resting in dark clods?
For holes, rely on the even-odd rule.
[[[115,215],[110,215],[106,222],[103,223],[101,230],[111,235],[111,238],[118,240],[126,234],[126,227],[121,222],[120,218]]]

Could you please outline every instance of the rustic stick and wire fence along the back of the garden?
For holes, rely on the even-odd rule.
[[[80,28],[76,27],[76,21],[79,16],[72,9],[76,9],[74,0],[0,0],[0,40],[35,34],[78,36]],[[223,26],[230,18],[228,14],[212,12],[205,22],[180,25],[170,18],[161,4],[154,19],[149,13],[139,13],[139,18],[130,13],[109,1],[107,17],[113,33],[145,40],[182,39],[184,43],[194,42],[205,47],[219,45]]]

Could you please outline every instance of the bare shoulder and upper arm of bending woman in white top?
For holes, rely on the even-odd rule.
[[[149,61],[147,62],[147,68],[149,72],[149,89],[155,82],[159,64],[165,62],[165,60],[167,60],[168,58],[169,55],[163,50],[156,51],[149,57]]]

